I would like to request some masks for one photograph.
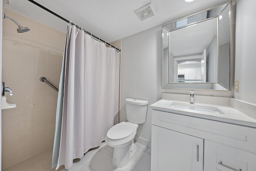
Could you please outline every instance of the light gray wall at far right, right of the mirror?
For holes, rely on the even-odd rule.
[[[256,1],[237,0],[235,80],[240,91],[234,97],[256,104]]]

